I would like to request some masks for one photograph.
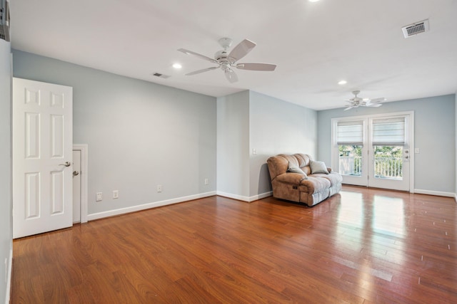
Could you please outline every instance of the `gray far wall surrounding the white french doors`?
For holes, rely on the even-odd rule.
[[[414,189],[456,192],[456,96],[444,95],[384,103],[381,108],[318,111],[319,158],[331,163],[331,119],[389,112],[414,112]],[[414,149],[411,149],[413,152]],[[447,168],[447,169],[446,169]]]

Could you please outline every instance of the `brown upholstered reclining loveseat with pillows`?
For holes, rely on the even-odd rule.
[[[338,193],[343,180],[341,174],[331,172],[330,168],[328,174],[311,174],[311,161],[308,154],[278,154],[268,158],[273,196],[313,206]],[[300,168],[304,174],[288,172],[293,167]]]

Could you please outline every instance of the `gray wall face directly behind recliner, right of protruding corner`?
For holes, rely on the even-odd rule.
[[[271,191],[266,159],[306,153],[317,157],[317,112],[251,91],[249,98],[250,196]],[[256,149],[257,154],[253,154]]]

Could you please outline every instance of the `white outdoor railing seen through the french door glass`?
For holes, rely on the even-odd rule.
[[[340,156],[339,172],[343,175],[360,176],[362,174],[362,157]],[[375,177],[399,179],[403,177],[402,157],[375,157]]]

